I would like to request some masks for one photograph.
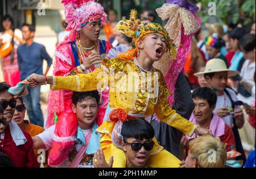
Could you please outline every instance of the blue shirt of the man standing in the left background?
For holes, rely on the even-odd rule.
[[[20,45],[17,49],[20,80],[24,80],[32,73],[43,75],[43,60],[46,59],[47,66],[52,65],[52,58],[46,52],[46,48],[33,42],[30,46]]]

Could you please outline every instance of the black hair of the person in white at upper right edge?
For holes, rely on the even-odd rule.
[[[255,48],[255,35],[254,34],[246,34],[239,40],[239,45],[246,52],[250,52]]]

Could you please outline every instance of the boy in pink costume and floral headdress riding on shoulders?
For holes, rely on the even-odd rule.
[[[70,33],[56,48],[53,75],[90,73],[112,48],[109,42],[98,40],[101,26],[108,22],[104,7],[92,0],[63,0],[62,3],[65,6],[65,18],[68,23],[66,30]],[[57,121],[48,157],[48,164],[52,167],[65,160],[76,140],[78,123],[72,111],[72,94],[72,91],[51,91],[48,96],[46,127]],[[108,92],[102,92],[97,117],[98,126],[103,121],[108,96]]]

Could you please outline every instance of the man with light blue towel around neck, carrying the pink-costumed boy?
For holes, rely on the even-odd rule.
[[[74,92],[72,95],[72,110],[76,114],[79,127],[77,129],[75,145],[69,151],[69,155],[63,163],[51,167],[64,168],[92,168],[93,154],[100,148],[100,134],[96,132],[98,125],[96,118],[98,114],[99,96],[97,91]],[[61,125],[65,125],[62,123]],[[52,147],[55,135],[55,125],[46,129],[43,133],[36,135],[33,139],[34,148],[48,150]]]

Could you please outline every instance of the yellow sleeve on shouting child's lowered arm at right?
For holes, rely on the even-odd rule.
[[[196,129],[196,125],[185,118],[181,117],[180,114],[177,114],[174,109],[171,108],[167,100],[167,96],[171,95],[171,92],[168,90],[165,80],[162,73],[160,73],[159,79],[159,88],[160,94],[158,98],[158,103],[154,107],[154,112],[158,116],[159,120],[167,123],[168,125],[175,127],[184,134],[191,137]]]

